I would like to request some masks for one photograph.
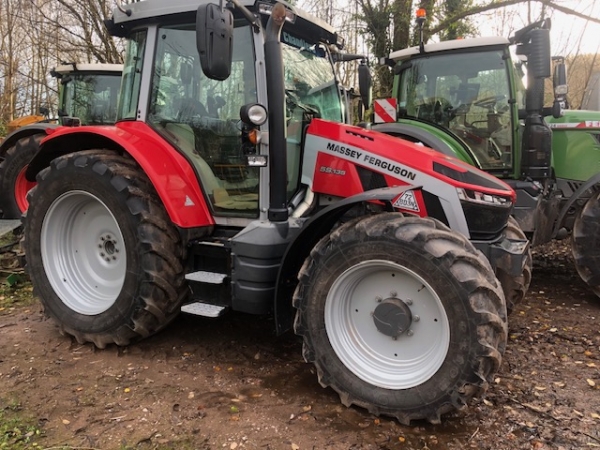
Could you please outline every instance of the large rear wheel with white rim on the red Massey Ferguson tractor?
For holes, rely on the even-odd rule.
[[[61,331],[104,348],[166,326],[187,293],[183,248],[135,162],[88,150],[55,159],[37,181],[25,219],[27,265]]]

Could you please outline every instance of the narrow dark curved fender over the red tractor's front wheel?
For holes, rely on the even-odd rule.
[[[294,320],[292,296],[298,284],[297,276],[304,260],[317,242],[334,228],[340,218],[353,206],[372,201],[383,202],[388,211],[393,211],[392,202],[394,199],[404,191],[420,188],[420,186],[405,185],[362,192],[328,206],[304,223],[302,230],[289,243],[277,275],[275,304],[273,306],[277,334],[282,334],[292,327]]]

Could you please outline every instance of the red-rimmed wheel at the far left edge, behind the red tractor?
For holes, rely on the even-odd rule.
[[[44,134],[19,139],[3,155],[0,163],[0,211],[4,219],[20,219],[29,205],[27,192],[35,186],[27,181],[25,170],[40,148]]]

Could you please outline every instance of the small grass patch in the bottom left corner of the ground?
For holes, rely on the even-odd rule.
[[[42,436],[37,421],[21,411],[18,401],[0,401],[0,449],[21,450],[38,447]]]

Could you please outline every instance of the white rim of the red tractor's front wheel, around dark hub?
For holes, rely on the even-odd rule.
[[[410,304],[413,316],[410,330],[396,339],[378,331],[372,317],[378,300],[394,294]],[[426,382],[450,345],[450,324],[439,296],[422,277],[391,261],[366,261],[342,273],[327,295],[324,319],[344,366],[381,388],[408,389]]]

